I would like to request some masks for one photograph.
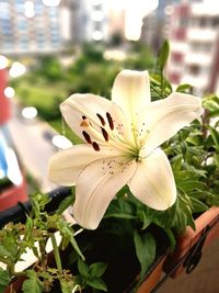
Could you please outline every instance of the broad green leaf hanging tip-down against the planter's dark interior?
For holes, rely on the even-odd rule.
[[[135,230],[134,243],[136,247],[136,255],[141,267],[140,280],[142,280],[155,259],[155,240],[149,233],[140,235],[138,230]]]

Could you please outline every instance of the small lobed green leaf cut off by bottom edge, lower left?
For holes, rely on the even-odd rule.
[[[38,281],[37,279],[37,274],[34,270],[27,270],[26,271],[26,277],[28,279],[26,279],[23,282],[22,285],[22,291],[24,293],[42,293],[43,292],[43,286],[42,283]]]

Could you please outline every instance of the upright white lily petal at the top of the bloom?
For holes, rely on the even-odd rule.
[[[114,81],[112,100],[124,110],[129,123],[135,124],[137,113],[150,103],[148,71],[123,70],[118,74]]]

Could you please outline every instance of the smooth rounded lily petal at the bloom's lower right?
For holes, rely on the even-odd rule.
[[[130,182],[132,194],[158,211],[169,209],[176,200],[176,187],[170,162],[160,148],[138,164]]]

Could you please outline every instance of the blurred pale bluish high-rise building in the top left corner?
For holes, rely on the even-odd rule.
[[[0,54],[60,50],[70,38],[68,2],[59,0],[0,1]],[[53,4],[54,3],[54,4]]]

